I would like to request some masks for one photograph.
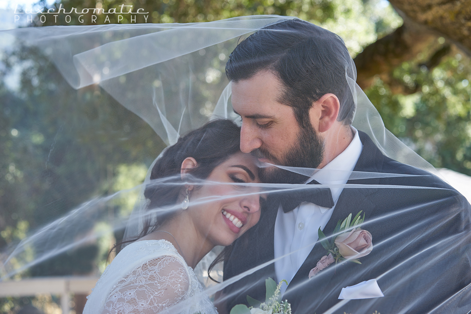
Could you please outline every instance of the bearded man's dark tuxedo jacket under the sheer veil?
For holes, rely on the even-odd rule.
[[[362,228],[373,236],[372,252],[360,258],[361,265],[332,264],[309,280],[311,268],[326,255],[317,242],[283,299],[291,303],[293,314],[321,314],[329,309],[331,313],[353,314],[468,313],[470,204],[438,177],[384,156],[361,131],[359,137],[363,150],[354,171],[413,176],[349,180],[347,184],[353,187],[343,189],[324,233],[329,237],[340,219],[363,210]],[[277,209],[278,206],[272,206],[262,211],[259,223],[234,242],[224,263],[224,280],[274,258]],[[271,263],[228,286],[224,290],[229,300],[227,313],[236,304],[247,304],[247,295],[264,301],[268,277],[284,279],[276,278]],[[343,287],[374,278],[384,297],[343,301],[343,306],[339,305]]]

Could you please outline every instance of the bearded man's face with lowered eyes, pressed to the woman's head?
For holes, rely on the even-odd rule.
[[[317,168],[323,141],[316,130],[300,128],[293,108],[281,104],[283,85],[271,72],[261,71],[232,85],[232,106],[242,118],[240,148],[259,161],[275,165]],[[265,182],[302,183],[306,177],[275,167],[261,174]],[[289,181],[289,182],[287,182]]]

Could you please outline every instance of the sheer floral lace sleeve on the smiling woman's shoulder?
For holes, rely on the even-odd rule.
[[[106,298],[102,314],[154,314],[186,298],[187,266],[173,256],[146,261],[120,279]]]

